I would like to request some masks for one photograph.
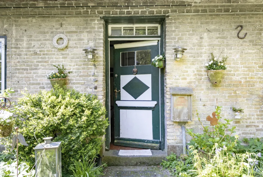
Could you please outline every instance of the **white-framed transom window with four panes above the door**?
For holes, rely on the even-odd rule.
[[[159,24],[111,24],[109,36],[159,36]]]

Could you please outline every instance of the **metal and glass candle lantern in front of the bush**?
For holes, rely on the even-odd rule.
[[[51,142],[52,137],[43,138],[35,150],[36,177],[61,177],[61,142]]]

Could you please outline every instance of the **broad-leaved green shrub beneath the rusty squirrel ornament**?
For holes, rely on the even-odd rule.
[[[200,121],[198,112],[196,111],[196,115],[198,120],[203,127],[203,133],[194,133],[193,130],[187,130],[187,133],[193,138],[190,140],[188,145],[192,145],[195,149],[204,151],[206,153],[210,153],[213,149],[213,145],[218,143],[219,146],[227,146],[231,152],[235,152],[236,144],[240,144],[236,137],[231,136],[232,133],[235,133],[236,127],[233,126],[229,129],[230,120],[224,119],[226,123],[220,122],[220,113],[221,113],[221,106],[216,106],[216,118],[218,119],[218,124],[211,127],[211,126],[204,126],[203,123]],[[237,141],[235,144],[234,142]]]

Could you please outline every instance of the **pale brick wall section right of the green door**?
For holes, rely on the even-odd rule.
[[[186,124],[200,132],[201,121],[209,125],[206,117],[211,115],[216,105],[223,106],[223,119],[234,119],[231,106],[244,109],[243,119],[234,119],[236,132],[241,137],[263,136],[263,52],[262,15],[177,15],[166,19],[166,117],[167,142],[176,145],[182,142],[181,127],[170,121],[170,87],[193,88],[193,121]],[[235,28],[243,25],[240,36]],[[185,46],[188,50],[179,61],[173,59],[175,46]],[[225,77],[220,85],[209,82],[205,63],[210,53],[218,57],[229,57]],[[189,141],[191,137],[187,137]]]

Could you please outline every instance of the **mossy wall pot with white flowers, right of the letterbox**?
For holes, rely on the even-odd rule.
[[[213,53],[211,53],[210,62],[206,63],[206,69],[208,73],[209,80],[212,84],[220,84],[226,70],[226,60],[227,56],[222,57],[222,60],[215,58]]]

